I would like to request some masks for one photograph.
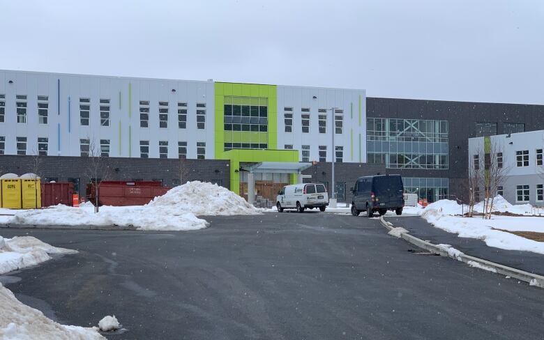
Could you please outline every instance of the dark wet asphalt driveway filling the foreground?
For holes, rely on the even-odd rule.
[[[109,339],[544,339],[544,290],[413,254],[378,219],[206,219],[190,232],[2,229],[80,250],[3,281],[63,323],[115,314],[127,332]]]

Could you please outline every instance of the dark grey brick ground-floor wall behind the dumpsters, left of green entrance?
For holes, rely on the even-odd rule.
[[[33,172],[34,156],[0,155],[0,174],[13,172],[17,175]],[[162,179],[165,186],[172,180],[203,180],[230,187],[228,160],[176,160],[142,158],[104,158],[110,167],[109,180]],[[80,193],[85,192],[88,157],[43,156],[40,157],[38,175],[41,178],[57,178],[64,182],[68,178],[80,178]],[[103,178],[106,179],[106,178]]]

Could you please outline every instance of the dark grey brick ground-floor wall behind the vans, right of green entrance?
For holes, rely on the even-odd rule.
[[[316,165],[302,171],[303,175],[312,175],[312,178],[305,178],[304,182],[329,183],[328,192],[331,192],[331,162],[319,162]],[[352,195],[349,189],[354,186],[358,177],[385,174],[386,169],[383,164],[365,164],[365,163],[335,163],[334,180],[336,183],[345,183],[345,197],[338,196],[339,202],[349,201]],[[343,186],[342,186],[343,187]]]

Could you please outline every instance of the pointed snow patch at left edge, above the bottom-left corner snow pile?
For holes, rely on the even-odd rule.
[[[32,236],[0,236],[0,274],[47,261],[51,258],[49,254],[74,253],[77,251],[53,247]]]

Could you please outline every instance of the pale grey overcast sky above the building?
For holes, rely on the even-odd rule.
[[[0,69],[544,104],[544,1],[0,0]]]

